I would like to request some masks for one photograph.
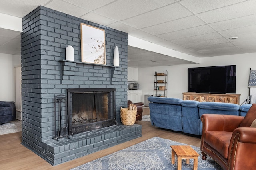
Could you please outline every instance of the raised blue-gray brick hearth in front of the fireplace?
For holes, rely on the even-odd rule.
[[[50,162],[59,164],[137,137],[141,137],[141,125],[114,125],[79,133],[70,136],[70,139],[62,137],[59,141],[46,140],[43,142],[43,152]]]

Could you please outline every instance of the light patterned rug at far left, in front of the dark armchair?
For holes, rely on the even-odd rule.
[[[21,129],[22,129],[22,127],[21,127],[20,120],[11,121],[9,123],[4,123],[4,124],[0,125],[0,135],[14,133],[14,132],[20,132]]]

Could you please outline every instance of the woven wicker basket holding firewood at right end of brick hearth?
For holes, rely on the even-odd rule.
[[[121,108],[121,122],[124,125],[133,125],[136,121],[137,109],[128,110],[128,108]]]

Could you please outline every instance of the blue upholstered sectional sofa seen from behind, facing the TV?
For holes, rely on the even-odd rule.
[[[148,97],[151,124],[160,128],[202,135],[201,116],[206,113],[245,116],[252,104],[198,102],[178,98]]]

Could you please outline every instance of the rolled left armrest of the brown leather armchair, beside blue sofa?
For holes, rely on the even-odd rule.
[[[228,131],[233,132],[238,128],[244,117],[236,115],[203,114],[203,133],[206,131]]]

